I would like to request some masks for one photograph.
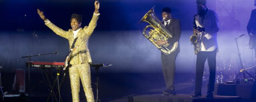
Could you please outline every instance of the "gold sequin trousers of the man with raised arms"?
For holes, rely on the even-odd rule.
[[[84,88],[87,102],[94,102],[94,95],[91,86],[91,73],[89,63],[72,65],[69,68],[70,84],[73,102],[79,101],[80,78]]]

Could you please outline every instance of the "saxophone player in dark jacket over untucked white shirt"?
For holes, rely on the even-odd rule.
[[[204,73],[204,63],[207,59],[210,76],[208,82],[207,98],[213,98],[215,73],[216,73],[216,53],[217,32],[219,31],[218,16],[216,12],[206,7],[206,0],[196,0],[198,14],[195,16],[196,28],[194,33],[198,33],[200,42],[200,50],[196,57],[196,87],[195,92],[190,97],[202,96],[202,77]]]

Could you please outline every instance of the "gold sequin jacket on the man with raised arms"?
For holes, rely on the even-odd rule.
[[[83,29],[80,29],[80,31],[78,31],[76,37],[78,37],[76,43],[75,43],[75,48],[73,50],[73,55],[78,53],[79,51],[84,51],[86,50],[86,53],[78,53],[78,55],[74,56],[71,61],[70,64],[71,65],[76,65],[78,63],[91,63],[92,59],[90,56],[90,51],[88,49],[88,41],[89,41],[89,37],[92,34],[92,32],[94,31],[96,25],[97,25],[97,20],[99,18],[99,15],[95,15],[93,14],[92,16],[92,20],[90,21],[88,26],[85,26]],[[61,37],[64,37],[66,39],[68,39],[69,42],[69,47],[71,48],[72,43],[74,42],[74,33],[72,31],[72,29],[69,29],[68,31],[64,31],[61,28],[55,26],[52,22],[46,22],[45,23],[46,26],[48,26],[50,29],[52,29],[52,31],[54,31],[57,35],[60,35]]]

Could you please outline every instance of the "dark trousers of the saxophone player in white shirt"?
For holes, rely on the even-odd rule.
[[[208,82],[208,91],[213,92],[215,73],[216,73],[216,53],[217,49],[214,51],[200,51],[196,57],[196,89],[195,92],[201,92],[202,88],[202,78],[204,74],[204,63],[207,59],[210,76]]]

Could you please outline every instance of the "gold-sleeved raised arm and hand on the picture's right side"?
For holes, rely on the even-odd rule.
[[[84,27],[84,31],[88,32],[89,35],[92,34],[92,32],[94,31],[95,27],[97,26],[97,21],[99,18],[100,13],[98,13],[99,9],[100,9],[100,3],[98,1],[94,2],[94,14],[92,16],[92,20],[90,21],[88,27],[85,26]]]

